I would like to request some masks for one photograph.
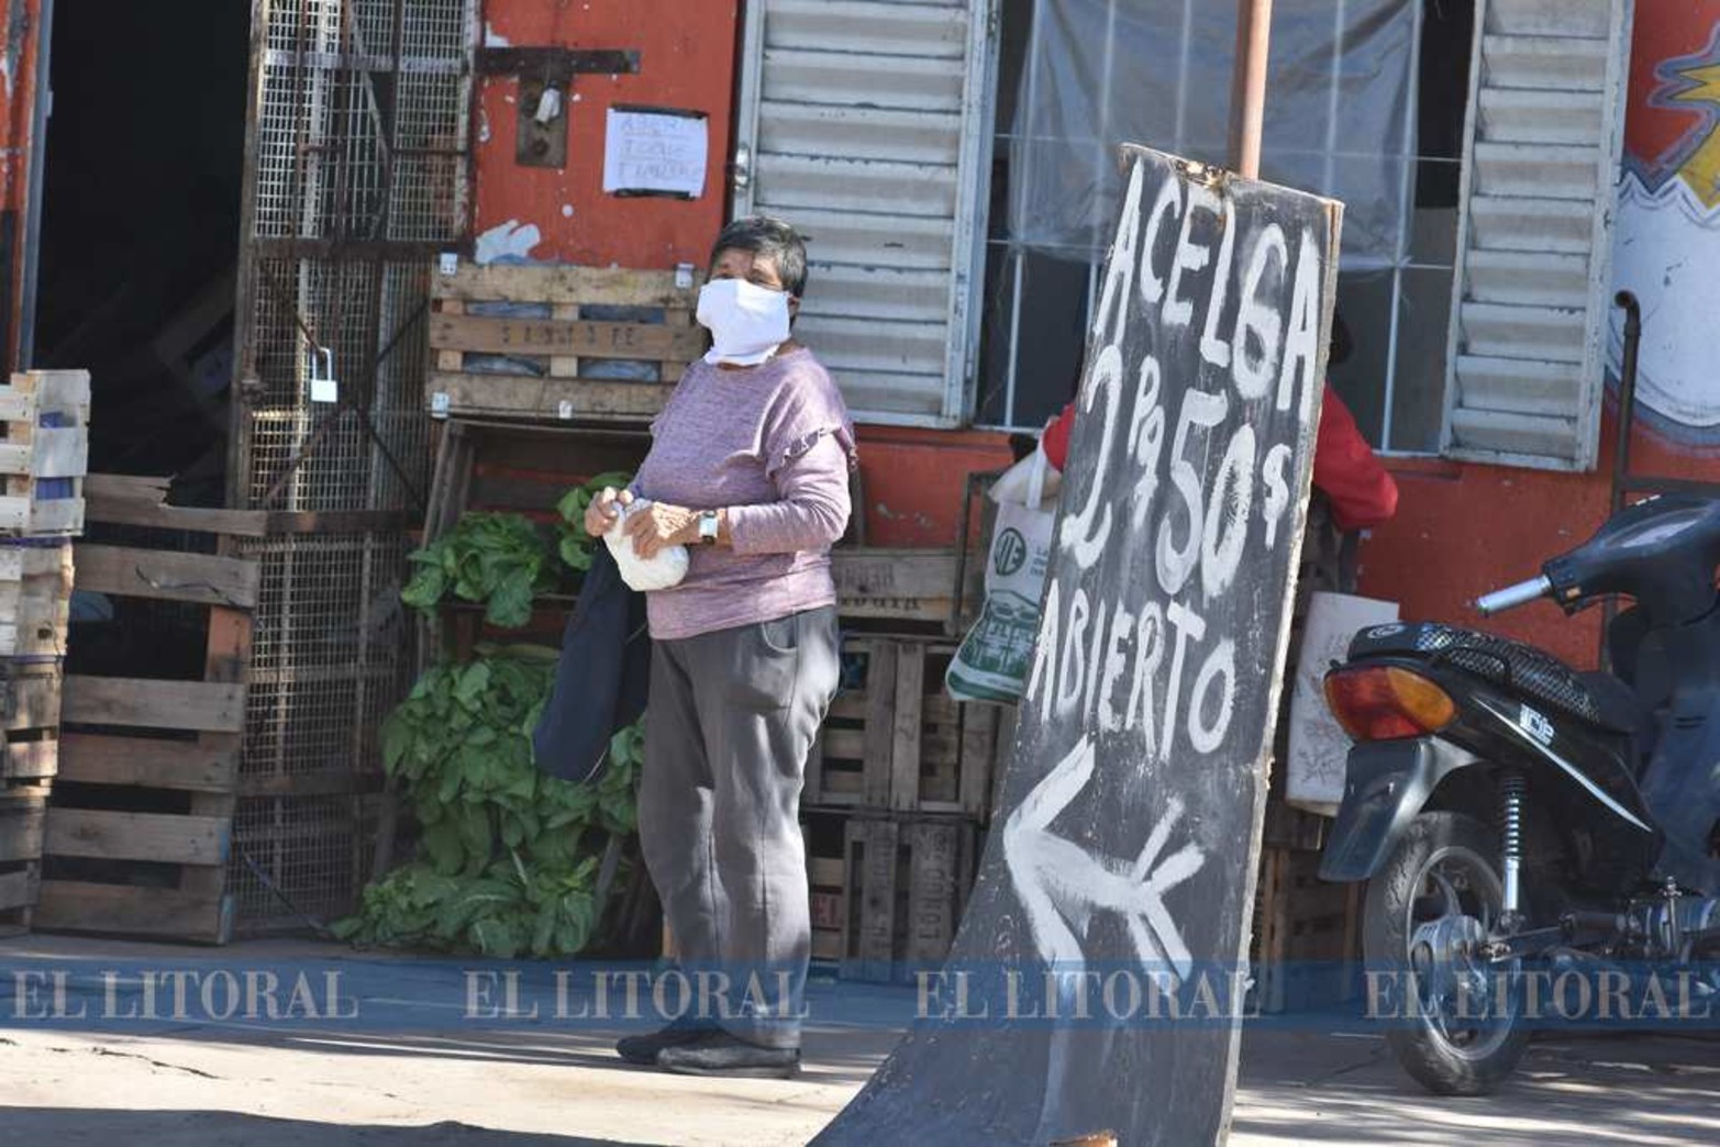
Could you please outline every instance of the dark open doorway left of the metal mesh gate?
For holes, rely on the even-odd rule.
[[[34,366],[86,368],[89,468],[222,504],[249,3],[53,5]]]

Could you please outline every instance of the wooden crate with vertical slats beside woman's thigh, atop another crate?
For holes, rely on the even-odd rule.
[[[955,647],[855,636],[843,653],[862,679],[831,702],[802,803],[989,817],[999,710],[944,693]]]

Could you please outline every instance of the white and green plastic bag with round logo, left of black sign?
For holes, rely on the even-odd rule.
[[[1056,524],[1056,512],[1044,506],[1047,471],[1044,451],[1035,449],[998,481],[1008,485],[986,557],[986,605],[944,674],[958,702],[1015,703],[1027,688]]]

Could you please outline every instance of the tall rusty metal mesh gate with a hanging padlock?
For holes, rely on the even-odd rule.
[[[230,877],[251,932],[301,923],[287,901],[346,911],[370,875],[377,726],[411,671],[428,279],[466,234],[478,19],[476,0],[255,10],[232,500],[339,518],[244,547],[263,600]]]

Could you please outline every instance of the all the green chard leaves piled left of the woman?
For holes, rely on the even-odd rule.
[[[433,616],[452,597],[483,604],[495,628],[530,624],[540,595],[592,567],[592,499],[630,480],[607,473],[569,490],[556,507],[554,547],[523,514],[461,516],[409,555],[401,598]],[[638,824],[643,719],[611,739],[595,782],[550,777],[533,760],[531,731],[554,674],[556,650],[480,645],[471,662],[425,672],[389,714],[382,762],[416,813],[418,855],[373,880],[358,913],[334,925],[337,935],[495,958],[569,956],[595,939],[607,892],[597,887],[600,856]]]

